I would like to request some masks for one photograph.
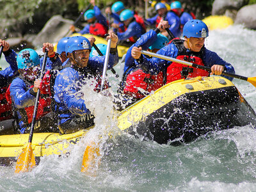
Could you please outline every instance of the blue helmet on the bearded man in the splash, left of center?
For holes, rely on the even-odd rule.
[[[67,45],[65,47],[66,55],[68,52],[72,53],[73,51],[83,49],[92,49],[89,40],[84,36],[72,36],[68,39]]]

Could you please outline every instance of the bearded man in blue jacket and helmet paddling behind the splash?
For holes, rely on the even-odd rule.
[[[106,40],[111,39],[108,68],[118,63],[117,42],[118,37],[109,33]],[[58,127],[61,133],[74,132],[86,129],[94,124],[94,116],[86,107],[82,95],[77,92],[81,86],[92,79],[92,89],[100,90],[101,75],[104,67],[105,56],[90,57],[92,45],[84,36],[72,36],[66,45],[67,64],[70,67],[61,70],[54,84],[54,100],[56,102],[56,113],[58,114]],[[104,88],[107,88],[105,84]]]

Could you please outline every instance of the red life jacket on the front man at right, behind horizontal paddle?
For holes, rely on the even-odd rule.
[[[173,40],[173,44],[175,44],[176,47],[179,49],[176,59],[189,61],[191,63],[204,66],[204,63],[202,61],[202,51],[196,52],[196,55],[188,55],[186,52],[186,48],[183,45],[183,42],[184,40]],[[182,76],[181,72],[188,73],[188,76]],[[186,77],[190,78],[197,76],[209,76],[209,72],[200,68],[189,67],[188,65],[182,65],[180,63],[172,62],[172,64],[168,66],[166,71],[166,83],[170,83],[179,79],[185,79]]]

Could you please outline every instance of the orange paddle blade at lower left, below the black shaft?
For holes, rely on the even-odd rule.
[[[36,161],[33,149],[31,147],[31,143],[28,143],[27,147],[22,150],[19,158],[17,159],[15,173],[30,172],[35,165]]]

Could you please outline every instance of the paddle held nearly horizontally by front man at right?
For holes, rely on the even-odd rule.
[[[188,66],[195,67],[195,68],[201,68],[201,69],[204,69],[204,70],[207,70],[207,71],[211,72],[211,67],[207,67],[207,66],[203,66],[203,65],[196,65],[195,63],[190,63],[188,61],[177,60],[175,58],[171,58],[171,57],[168,57],[168,56],[163,56],[161,54],[156,54],[154,52],[141,51],[141,53],[146,54],[148,56],[156,57],[156,58],[159,58],[159,59],[162,59],[162,60],[173,61],[173,62],[176,62],[176,63],[180,63],[180,64],[183,64],[183,65],[188,65]],[[236,78],[236,79],[241,79],[241,80],[244,80],[244,81],[248,81],[249,83],[252,83],[253,86],[256,87],[256,77],[244,77],[244,76],[239,76],[239,75],[228,73],[228,72],[222,72],[221,75],[228,76],[228,77],[233,77],[233,78]]]

